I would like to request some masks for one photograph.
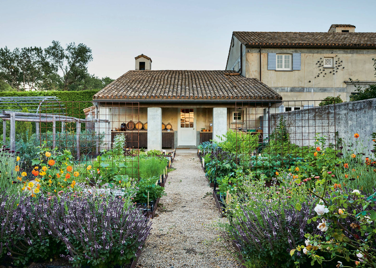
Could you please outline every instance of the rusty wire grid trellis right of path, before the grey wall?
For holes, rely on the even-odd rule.
[[[253,172],[270,180],[313,154],[312,148],[335,148],[335,104],[320,103],[236,102],[229,128],[236,132],[236,161],[243,177]]]

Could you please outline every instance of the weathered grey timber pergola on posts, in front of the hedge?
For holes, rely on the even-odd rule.
[[[17,111],[2,111],[0,114],[0,118],[3,120],[3,142],[6,142],[6,121],[9,120],[11,123],[10,129],[10,140],[11,140],[11,151],[15,151],[16,148],[16,140],[15,140],[15,125],[16,121],[23,121],[23,122],[35,122],[36,126],[36,136],[40,138],[39,132],[39,124],[52,122],[52,149],[56,147],[56,122],[62,123],[62,131],[64,129],[64,122],[76,122],[76,147],[77,147],[77,159],[80,157],[80,131],[81,131],[81,123],[91,122],[95,125],[95,131],[97,135],[97,146],[96,146],[96,153],[99,153],[99,141],[100,141],[100,132],[99,132],[99,123],[105,122],[108,123],[106,126],[106,134],[110,133],[110,121],[107,119],[99,119],[99,116],[93,119],[80,119],[77,117],[71,116],[64,116],[59,114],[48,114],[48,113],[24,113],[24,112],[17,112]]]

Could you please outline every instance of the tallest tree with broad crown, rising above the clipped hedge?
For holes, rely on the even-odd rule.
[[[58,41],[45,49],[45,53],[52,63],[62,72],[62,90],[69,90],[71,84],[79,83],[87,77],[87,65],[92,60],[91,49],[84,44],[74,42],[63,48]]]

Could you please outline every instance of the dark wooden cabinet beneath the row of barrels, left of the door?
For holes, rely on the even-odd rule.
[[[111,131],[111,143],[118,133],[126,134],[127,148],[147,148],[147,130]],[[162,148],[174,148],[174,131],[162,131]]]

